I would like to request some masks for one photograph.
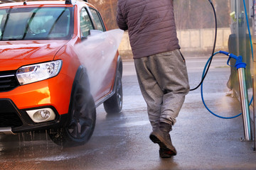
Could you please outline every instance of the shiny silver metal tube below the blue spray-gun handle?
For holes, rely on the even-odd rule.
[[[242,119],[245,130],[245,140],[252,140],[252,130],[250,125],[250,110],[248,103],[247,86],[245,81],[245,68],[238,69],[238,79],[240,87],[240,99],[242,107]]]

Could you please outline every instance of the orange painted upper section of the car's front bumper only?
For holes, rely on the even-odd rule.
[[[75,77],[75,74],[74,74]],[[0,98],[9,98],[18,109],[53,106],[59,115],[68,113],[73,80],[65,74],[1,92]],[[0,106],[2,109],[4,106]]]

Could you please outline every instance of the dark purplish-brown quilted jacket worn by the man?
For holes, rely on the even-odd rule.
[[[180,48],[173,0],[118,0],[117,25],[128,30],[134,59]]]

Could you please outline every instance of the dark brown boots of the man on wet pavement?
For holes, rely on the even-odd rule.
[[[171,125],[168,123],[160,123],[159,128],[156,128],[149,136],[152,142],[159,145],[159,154],[162,158],[168,158],[177,154],[174,145],[171,143],[170,131]]]

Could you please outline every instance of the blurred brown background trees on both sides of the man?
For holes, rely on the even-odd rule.
[[[117,23],[117,0],[89,0],[102,14],[108,29],[115,29]],[[213,0],[218,17],[218,27],[229,27],[230,0]],[[213,28],[213,10],[208,0],[174,0],[177,29]]]

